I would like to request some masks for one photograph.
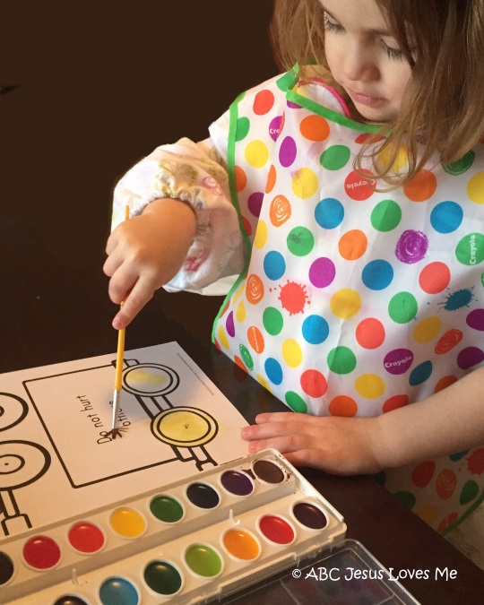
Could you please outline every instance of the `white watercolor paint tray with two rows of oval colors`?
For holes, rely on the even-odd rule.
[[[266,450],[2,540],[0,602],[220,601],[345,533],[341,514]]]

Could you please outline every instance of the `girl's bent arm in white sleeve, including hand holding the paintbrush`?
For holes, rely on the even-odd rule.
[[[124,221],[125,205],[133,218]],[[116,329],[129,324],[161,286],[200,292],[238,274],[244,263],[227,170],[210,139],[181,139],[138,162],[115,188],[112,224],[104,272],[111,278],[111,300],[125,301]],[[211,293],[224,289],[229,285]]]

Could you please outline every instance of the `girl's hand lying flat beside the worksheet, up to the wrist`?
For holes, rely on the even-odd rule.
[[[259,414],[242,429],[255,454],[274,448],[295,466],[352,475],[382,470],[378,462],[378,418],[320,417],[295,412]]]

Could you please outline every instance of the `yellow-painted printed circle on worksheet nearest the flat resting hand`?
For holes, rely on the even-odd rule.
[[[153,419],[151,430],[154,436],[168,445],[195,447],[212,441],[219,427],[206,411],[180,407],[160,412]]]

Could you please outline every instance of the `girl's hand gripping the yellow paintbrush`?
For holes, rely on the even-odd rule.
[[[110,277],[109,298],[123,306],[113,320],[117,330],[129,324],[155,290],[179,271],[192,244],[195,217],[180,200],[151,202],[140,216],[125,220],[108,238],[103,271]]]

